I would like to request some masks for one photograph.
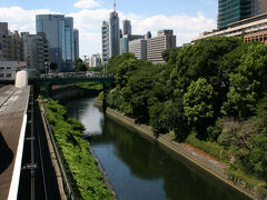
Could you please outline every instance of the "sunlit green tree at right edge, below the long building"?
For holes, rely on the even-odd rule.
[[[267,47],[250,44],[244,53],[236,73],[230,74],[230,90],[221,112],[247,119],[254,114],[255,106],[267,82]]]

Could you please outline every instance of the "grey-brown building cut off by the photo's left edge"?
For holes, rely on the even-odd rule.
[[[8,23],[0,22],[0,61],[9,60]]]

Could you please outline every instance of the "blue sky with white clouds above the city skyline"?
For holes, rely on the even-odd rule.
[[[117,0],[119,20],[131,21],[132,33],[172,29],[177,46],[198,33],[216,29],[218,0]],[[101,53],[101,23],[109,19],[113,0],[0,0],[0,21],[11,31],[36,33],[36,14],[61,13],[73,17],[80,33],[80,58]],[[120,24],[120,27],[122,27]]]

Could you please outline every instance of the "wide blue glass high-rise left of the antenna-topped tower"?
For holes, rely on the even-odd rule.
[[[44,32],[49,42],[49,61],[60,71],[70,71],[75,62],[73,18],[63,14],[37,14],[36,32]]]

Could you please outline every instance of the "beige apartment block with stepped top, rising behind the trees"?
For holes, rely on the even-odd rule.
[[[147,40],[147,60],[154,63],[165,62],[161,53],[171,47],[176,47],[174,30],[158,31],[157,37]]]

